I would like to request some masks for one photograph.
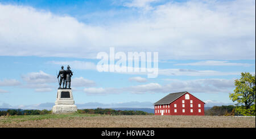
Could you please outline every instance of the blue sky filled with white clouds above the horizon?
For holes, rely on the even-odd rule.
[[[110,47],[157,52],[158,76],[97,71]],[[183,91],[232,105],[234,80],[255,74],[255,1],[0,0],[0,64],[0,108],[51,108],[68,65],[78,108],[153,108]]]

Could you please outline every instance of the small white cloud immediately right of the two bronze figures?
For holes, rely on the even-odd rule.
[[[84,79],[84,77],[76,77],[72,79],[72,86],[77,86],[77,87],[90,87],[90,86],[95,86],[95,82],[92,80]]]

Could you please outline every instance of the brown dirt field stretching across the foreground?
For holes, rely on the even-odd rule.
[[[0,118],[4,119],[3,117]],[[255,118],[233,116],[84,116],[0,122],[0,127],[244,127],[255,128]]]

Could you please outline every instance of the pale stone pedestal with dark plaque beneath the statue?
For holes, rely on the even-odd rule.
[[[55,106],[52,107],[53,114],[76,112],[77,106],[74,105],[73,94],[71,89],[58,89]]]

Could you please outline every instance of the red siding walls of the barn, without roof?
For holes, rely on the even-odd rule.
[[[185,99],[185,94],[189,95],[189,99]],[[158,108],[158,105],[155,105],[155,115],[161,115],[160,111],[164,110],[164,115],[204,115],[204,102],[200,101],[200,99],[194,97],[189,93],[185,93],[181,95],[180,98],[177,98],[174,102],[168,105],[161,105],[161,108]],[[184,100],[184,103],[182,101]],[[192,103],[191,103],[192,100]],[[176,104],[176,107],[174,107]],[[184,104],[184,107],[182,106]],[[192,107],[191,107],[192,104]],[[199,104],[201,107],[199,107]],[[160,106],[160,105],[159,105]],[[164,106],[164,107],[163,107]],[[167,107],[166,107],[167,106]],[[176,112],[175,112],[176,109]],[[183,112],[183,109],[185,112]],[[191,109],[193,112],[191,112]],[[199,109],[201,112],[199,112]],[[170,110],[170,113],[169,113]]]

